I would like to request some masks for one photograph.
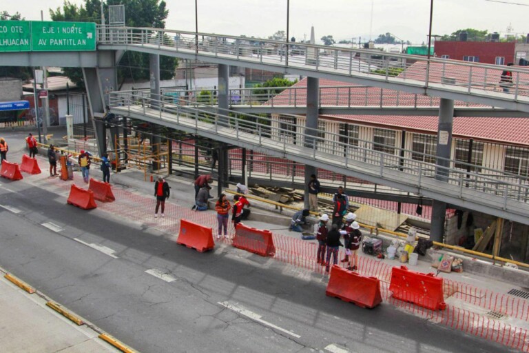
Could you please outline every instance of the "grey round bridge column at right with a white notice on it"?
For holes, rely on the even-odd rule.
[[[439,124],[437,132],[437,161],[435,179],[448,181],[450,168],[450,154],[452,152],[452,128],[454,122],[454,101],[441,99],[439,103]],[[446,203],[433,200],[430,239],[443,242],[444,222],[446,218]]]

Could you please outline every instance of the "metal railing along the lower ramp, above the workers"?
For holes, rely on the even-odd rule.
[[[399,182],[423,188],[425,187],[424,181],[433,179],[437,170],[439,174],[442,174],[446,183],[457,185],[459,199],[465,198],[465,190],[477,191],[473,197],[482,201],[489,201],[488,197],[490,196],[488,195],[493,194],[503,198],[502,205],[498,205],[498,207],[506,210],[508,200],[526,203],[529,198],[529,181],[523,176],[452,159],[437,158],[437,163],[448,165],[448,167],[442,167],[409,157],[401,157],[401,152],[406,156],[406,154],[409,155],[413,152],[410,150],[401,150],[391,146],[393,153],[388,153],[386,152],[388,146],[373,141],[358,141],[357,145],[342,143],[339,134],[301,128],[287,122],[278,124],[277,121],[268,117],[221,109],[218,109],[218,113],[215,114],[210,110],[149,99],[145,97],[145,94],[132,92],[112,92],[110,105],[113,108],[122,107],[123,110],[129,112],[136,109],[136,112],[139,110],[144,115],[147,112],[152,113],[154,110],[156,111],[156,119],[160,119],[162,125],[163,119],[167,119],[163,117],[163,114],[167,113],[172,114],[172,122],[178,125],[192,126],[197,131],[207,130],[219,134],[222,129],[229,128],[231,138],[251,140],[251,143],[256,146],[280,150],[285,155],[298,151],[304,157],[309,157],[315,161],[324,161],[327,165],[355,168],[354,162],[362,162],[366,168],[370,169],[365,170],[366,174],[375,173],[382,184],[384,178],[391,178],[390,171],[397,171],[399,172]],[[420,153],[413,152],[413,154]],[[424,154],[424,156],[433,157],[428,154]],[[478,170],[481,172],[453,168],[454,163],[463,165],[463,168],[468,168],[468,170],[479,168]],[[440,191],[435,190],[435,192]]]

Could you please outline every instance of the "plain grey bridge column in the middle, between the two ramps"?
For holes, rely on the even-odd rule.
[[[318,105],[320,101],[320,80],[314,77],[307,79],[307,122],[305,123],[306,138],[304,146],[313,148],[316,143],[313,137],[316,136],[316,129],[318,129],[318,115],[320,113],[320,107]],[[311,180],[311,175],[316,174],[316,168],[305,165],[305,192],[304,192],[304,208],[309,208],[309,189],[307,183]]]

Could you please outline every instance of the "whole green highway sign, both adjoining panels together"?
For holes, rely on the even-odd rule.
[[[96,23],[0,21],[0,52],[96,50]]]

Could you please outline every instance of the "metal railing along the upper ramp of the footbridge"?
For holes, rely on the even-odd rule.
[[[201,54],[280,68],[329,72],[367,81],[386,81],[459,94],[488,94],[506,101],[529,102],[529,69],[510,67],[512,82],[500,83],[505,67],[450,59],[352,48],[284,43],[224,34],[156,28],[98,27],[98,43]]]

